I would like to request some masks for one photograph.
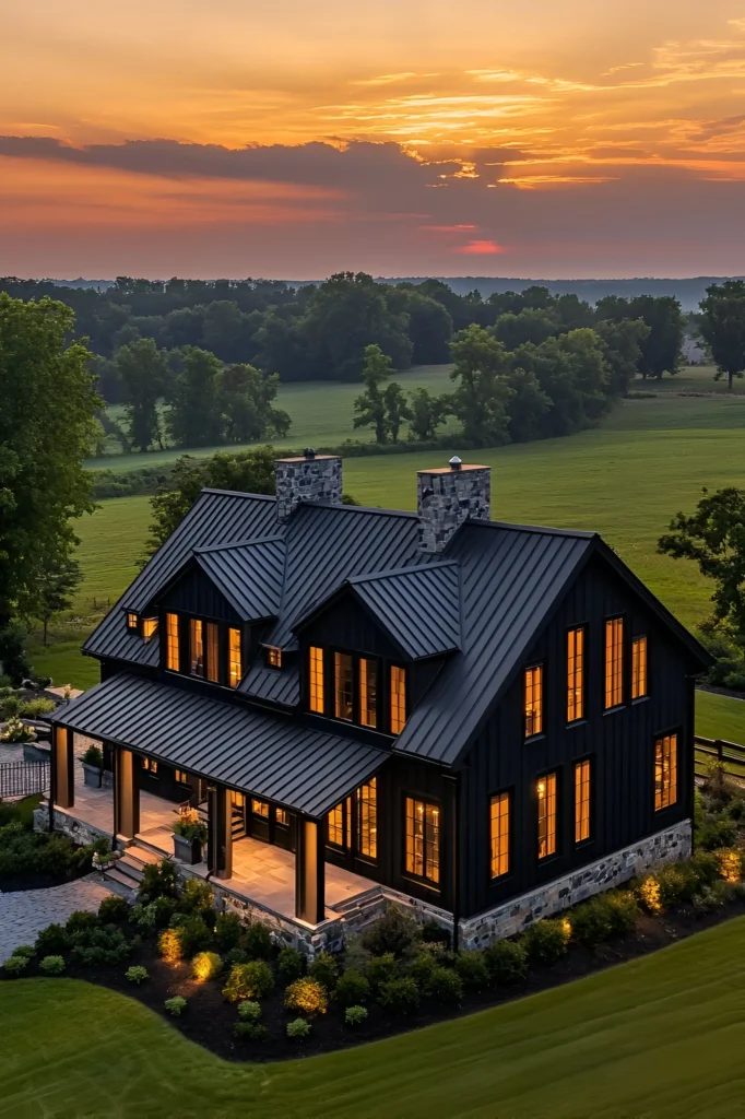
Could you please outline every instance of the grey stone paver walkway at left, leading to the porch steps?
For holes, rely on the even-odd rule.
[[[111,893],[95,872],[47,890],[0,893],[0,963],[19,944],[32,944],[48,924],[64,924],[75,910],[95,911]]]

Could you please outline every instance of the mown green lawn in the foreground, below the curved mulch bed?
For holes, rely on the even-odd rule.
[[[134,1000],[0,985],[0,1117],[728,1117],[745,919],[531,998],[329,1056],[230,1065]]]

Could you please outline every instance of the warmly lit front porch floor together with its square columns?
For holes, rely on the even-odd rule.
[[[91,788],[81,764],[91,739],[55,726],[50,793],[54,817],[69,819],[70,825],[81,821],[111,836],[112,841],[116,838],[133,854],[143,849],[172,858],[179,803],[141,789],[142,759],[121,746],[112,746],[113,783]],[[323,820],[296,814],[293,853],[245,835],[234,838],[232,790],[210,782],[205,791],[202,815],[208,843],[204,861],[190,866],[188,873],[216,884],[219,880],[220,892],[238,902],[315,927],[336,919],[339,908],[377,886],[372,880],[326,862]]]

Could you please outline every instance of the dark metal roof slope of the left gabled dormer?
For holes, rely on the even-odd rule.
[[[197,563],[244,621],[280,612],[284,540],[272,536],[248,544],[196,548]]]

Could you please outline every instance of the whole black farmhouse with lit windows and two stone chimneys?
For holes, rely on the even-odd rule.
[[[456,458],[416,514],[343,505],[334,457],[276,470],[205,490],[86,642],[50,826],[85,821],[97,740],[98,830],[132,855],[190,805],[188,873],[315,944],[396,899],[480,946],[689,853],[706,653],[596,534],[490,520]]]

